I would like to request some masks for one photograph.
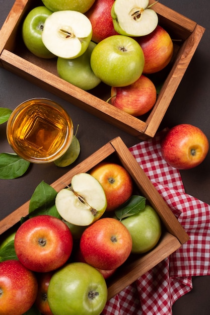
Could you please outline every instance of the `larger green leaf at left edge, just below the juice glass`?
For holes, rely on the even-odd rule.
[[[30,162],[14,153],[0,153],[0,179],[14,179],[22,176]]]

